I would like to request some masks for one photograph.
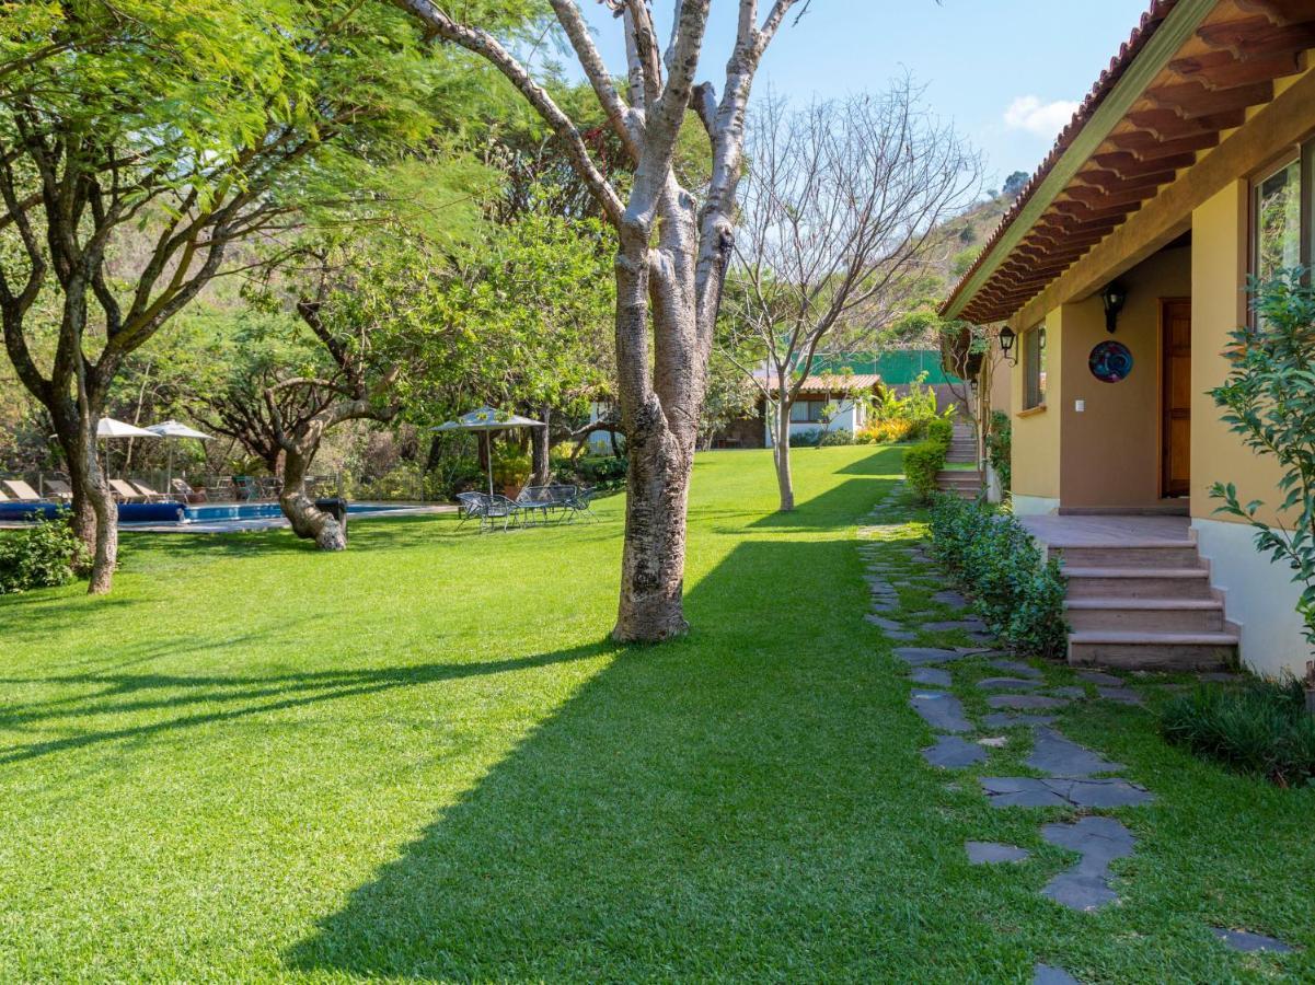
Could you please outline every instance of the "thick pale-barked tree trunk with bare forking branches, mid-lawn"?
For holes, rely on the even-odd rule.
[[[809,0],[775,0],[761,20],[757,0],[739,0],[719,100],[710,83],[694,83],[710,0],[676,0],[665,53],[648,0],[602,0],[625,32],[625,93],[575,0],[550,0],[634,166],[629,201],[594,160],[577,122],[489,30],[456,21],[431,0],[392,3],[506,76],[565,145],[571,166],[617,231],[617,375],[630,475],[613,637],[680,635],[688,629],[681,600],[685,508],[713,327],[734,245],[744,113],[763,53],[790,8],[800,4],[802,13]],[[711,178],[701,201],[681,187],[672,167],[686,110],[702,124],[711,151]]]

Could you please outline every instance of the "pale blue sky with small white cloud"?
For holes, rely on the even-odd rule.
[[[673,5],[654,1],[663,32]],[[581,7],[609,67],[623,72],[618,22],[596,0]],[[1005,175],[1040,163],[1148,7],[1148,0],[943,0],[939,7],[934,0],[813,0],[807,16],[798,25],[788,21],[777,36],[759,84],[803,100],[880,91],[909,71],[927,87],[932,110],[984,153],[986,181],[995,187]],[[704,79],[722,75],[736,8],[734,0],[713,0]]]

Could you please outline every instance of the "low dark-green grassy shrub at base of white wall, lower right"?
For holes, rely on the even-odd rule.
[[[1291,677],[1180,694],[1161,710],[1160,730],[1169,742],[1239,772],[1282,786],[1315,784],[1315,715],[1306,710],[1304,686]]]

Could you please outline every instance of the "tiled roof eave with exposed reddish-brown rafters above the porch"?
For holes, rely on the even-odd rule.
[[[1306,70],[1311,0],[1156,0],[942,306],[1005,321]]]

